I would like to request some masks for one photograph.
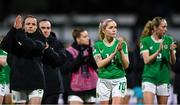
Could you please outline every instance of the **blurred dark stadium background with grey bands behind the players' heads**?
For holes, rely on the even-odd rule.
[[[52,28],[64,43],[72,41],[71,31],[83,26],[92,40],[98,38],[98,23],[105,18],[118,22],[118,35],[131,47],[144,24],[155,16],[168,21],[168,34],[180,40],[180,8],[176,0],[1,0],[0,35],[5,35],[17,14],[33,14],[52,21]]]

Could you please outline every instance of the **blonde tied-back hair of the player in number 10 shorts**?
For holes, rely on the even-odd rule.
[[[109,22],[112,22],[112,21],[114,21],[113,19],[105,19],[105,20],[103,20],[103,21],[101,21],[100,22],[100,24],[99,24],[99,38],[101,39],[101,40],[103,40],[104,38],[105,38],[105,35],[104,35],[104,33],[103,33],[103,30],[107,27],[107,24],[109,23]],[[115,21],[114,21],[115,22]]]

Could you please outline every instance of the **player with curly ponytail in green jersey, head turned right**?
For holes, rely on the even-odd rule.
[[[142,75],[144,104],[167,104],[170,84],[170,64],[176,61],[172,38],[166,35],[167,22],[162,17],[148,21],[140,39],[140,53],[145,66]]]

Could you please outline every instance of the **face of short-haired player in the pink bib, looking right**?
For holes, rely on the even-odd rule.
[[[80,45],[89,45],[89,36],[87,31],[83,31],[80,33],[80,37],[77,38],[78,44]]]

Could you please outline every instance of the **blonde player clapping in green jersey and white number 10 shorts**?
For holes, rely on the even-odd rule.
[[[125,69],[129,66],[127,44],[116,38],[117,24],[112,19],[100,22],[101,40],[94,45],[93,55],[98,65],[97,99],[100,104],[123,104],[127,80]]]

